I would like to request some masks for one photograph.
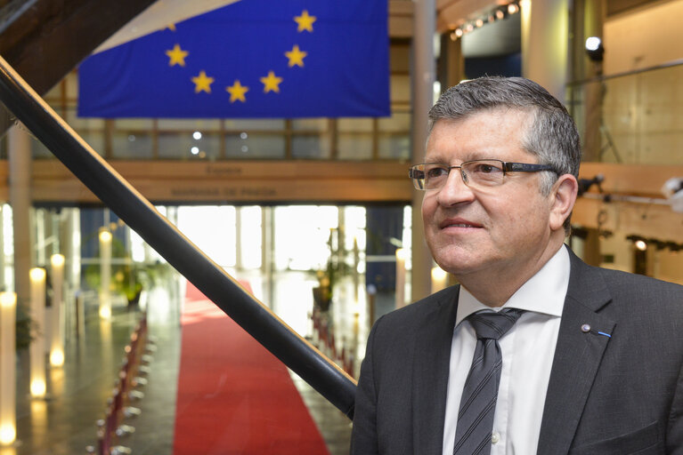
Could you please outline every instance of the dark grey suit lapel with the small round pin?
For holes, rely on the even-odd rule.
[[[611,300],[602,278],[570,251],[571,275],[541,421],[537,453],[565,455],[581,419],[614,321],[597,311]]]

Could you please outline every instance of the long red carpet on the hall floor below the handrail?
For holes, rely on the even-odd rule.
[[[174,454],[328,454],[287,368],[187,286]]]

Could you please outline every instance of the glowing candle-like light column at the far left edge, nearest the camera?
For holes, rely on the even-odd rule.
[[[0,293],[0,444],[17,437],[16,330],[17,294]]]

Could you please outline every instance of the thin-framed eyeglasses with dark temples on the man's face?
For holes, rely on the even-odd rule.
[[[552,171],[547,164],[506,163],[500,160],[472,160],[459,166],[448,164],[415,164],[411,166],[408,176],[417,189],[439,189],[448,180],[451,169],[459,169],[462,181],[469,188],[497,187],[503,184],[507,172],[541,172]]]

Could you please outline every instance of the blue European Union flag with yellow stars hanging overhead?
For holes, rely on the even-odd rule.
[[[89,57],[79,116],[388,116],[386,0],[240,0]]]

